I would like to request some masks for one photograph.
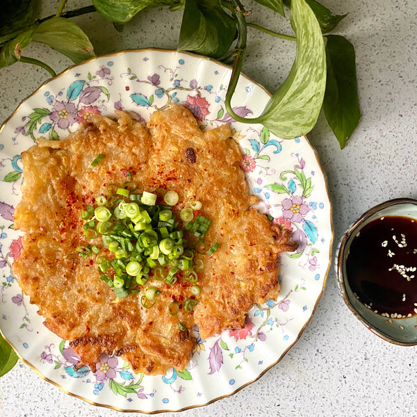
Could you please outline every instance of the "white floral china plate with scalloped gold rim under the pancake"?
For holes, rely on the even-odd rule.
[[[297,341],[325,286],[332,248],[332,206],[325,174],[306,138],[281,140],[259,124],[240,124],[224,110],[229,67],[177,51],[139,50],[93,58],[44,83],[0,130],[0,327],[20,359],[65,392],[123,411],[178,411],[231,395],[275,365]],[[240,77],[233,104],[255,117],[268,92]],[[42,325],[10,265],[20,256],[13,211],[22,184],[21,152],[36,138],[65,138],[94,114],[128,111],[140,122],[179,102],[202,129],[231,123],[242,168],[259,210],[293,230],[297,252],[281,256],[277,302],[255,305],[244,329],[203,341],[193,329],[193,358],[183,372],[149,377],[101,355],[97,371],[74,369],[77,355]]]

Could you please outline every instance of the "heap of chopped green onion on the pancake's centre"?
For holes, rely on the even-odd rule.
[[[136,184],[131,181],[122,187],[109,184],[108,196],[99,195],[94,206],[83,207],[84,234],[88,238],[100,236],[104,251],[95,242],[92,246],[77,247],[77,252],[84,258],[95,256],[100,279],[113,289],[118,299],[141,293],[140,303],[146,309],[156,303],[156,295],[160,293],[152,280],[163,281],[168,286],[189,281],[192,298],[186,300],[183,309],[191,312],[199,295],[199,286],[195,285],[197,271],[204,269],[202,259],[195,259],[196,247],[204,246],[204,235],[211,220],[202,215],[194,219],[193,209],[186,208],[180,217],[187,225],[178,229],[179,221],[172,212],[172,206],[179,200],[176,192],[168,191],[164,196],[168,205],[161,205],[156,204],[156,193],[131,194],[135,190]],[[193,202],[192,207],[201,208],[199,204]],[[187,231],[199,238],[193,249],[187,247]],[[217,248],[215,245],[211,250]],[[172,302],[168,312],[175,315],[179,309],[180,304]]]

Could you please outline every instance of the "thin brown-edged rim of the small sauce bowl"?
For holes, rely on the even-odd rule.
[[[417,211],[417,199],[412,198],[395,198],[395,199],[389,199],[386,202],[382,202],[380,204],[377,204],[376,206],[373,206],[369,208],[366,212],[364,212],[362,215],[355,220],[350,227],[345,231],[343,234],[340,243],[338,245],[338,248],[336,250],[336,278],[338,281],[338,287],[339,291],[341,293],[341,296],[343,298],[343,301],[347,305],[347,307],[354,313],[354,316],[359,319],[359,321],[368,329],[370,332],[373,332],[373,334],[376,334],[380,338],[384,339],[384,341],[387,341],[389,343],[393,343],[394,345],[400,345],[400,346],[415,346],[417,345],[417,339],[416,341],[412,342],[406,342],[406,341],[400,341],[396,338],[391,338],[387,334],[379,331],[379,329],[375,328],[368,320],[363,318],[359,311],[353,306],[352,302],[350,302],[349,297],[347,296],[347,290],[345,286],[345,276],[343,274],[343,255],[345,254],[347,240],[349,240],[350,236],[354,233],[354,231],[357,231],[358,228],[360,228],[364,223],[369,220],[369,218],[377,213],[378,211],[383,210],[384,208],[388,208],[390,206],[397,206],[400,204],[414,204],[416,205],[416,211]]]

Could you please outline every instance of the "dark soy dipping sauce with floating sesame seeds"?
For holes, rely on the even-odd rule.
[[[366,224],[350,245],[347,280],[359,300],[382,316],[417,312],[417,221],[386,216]]]

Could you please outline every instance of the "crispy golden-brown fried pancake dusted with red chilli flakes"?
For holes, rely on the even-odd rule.
[[[97,154],[104,158],[94,167]],[[251,208],[256,199],[248,192],[240,158],[229,125],[202,132],[179,105],[153,113],[147,128],[122,112],[117,121],[96,116],[66,140],[41,139],[22,154],[24,183],[15,227],[26,233],[13,270],[38,305],[44,325],[70,341],[80,366],[95,370],[106,352],[129,361],[136,372],[183,370],[193,343],[179,322],[188,329],[197,325],[207,338],[243,327],[254,302],[276,299],[279,253],[294,250],[295,243],[288,230],[271,227]],[[189,282],[168,286],[149,279],[147,286],[161,294],[151,309],[144,309],[143,292],[118,300],[99,279],[97,255],[76,256],[79,245],[106,250],[101,238],[85,238],[81,208],[108,194],[108,184],[126,179],[139,190],[177,191],[177,212],[199,200],[201,214],[212,220],[206,247],[220,246],[211,256],[200,256],[201,293],[192,313],[167,314],[172,300],[186,298]]]

